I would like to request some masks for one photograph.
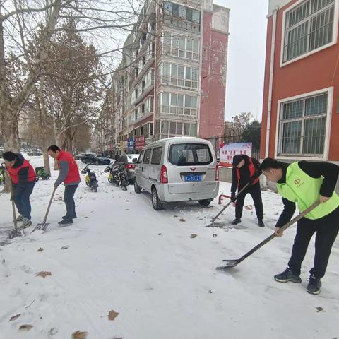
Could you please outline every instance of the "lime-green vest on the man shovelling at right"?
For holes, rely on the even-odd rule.
[[[283,198],[297,203],[300,212],[306,210],[312,203],[319,200],[319,192],[323,184],[323,177],[312,178],[306,174],[298,162],[294,162],[287,167],[286,183],[277,184],[278,192]],[[332,197],[321,203],[318,207],[307,214],[305,218],[315,220],[323,218],[333,212],[339,206],[339,196],[333,192]]]

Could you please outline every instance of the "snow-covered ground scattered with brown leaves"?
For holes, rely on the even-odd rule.
[[[30,161],[42,165],[41,157]],[[1,339],[66,339],[76,331],[88,339],[339,338],[338,240],[318,296],[306,292],[314,242],[302,284],[273,280],[285,269],[295,227],[228,273],[215,270],[222,259],[239,258],[273,232],[282,210],[277,194],[263,192],[264,229],[256,225],[254,209],[246,208],[242,225],[227,227],[233,207],[220,218],[224,229],[210,228],[205,226],[220,210],[217,201],[209,208],[181,203],[157,212],[148,194],[135,194],[133,186],[121,191],[107,182],[105,166],[91,168],[100,187],[93,193],[84,182],[79,186],[72,226],[57,225],[65,210],[60,187],[47,232],[26,232],[0,246]],[[35,186],[34,224],[44,218],[56,177],[53,172]],[[220,194],[229,191],[230,184],[220,184]],[[251,204],[249,197],[245,205]],[[0,241],[11,220],[9,196],[2,194]],[[36,276],[40,271],[52,275]],[[111,310],[119,313],[115,320],[107,317]],[[24,324],[33,327],[19,330]]]

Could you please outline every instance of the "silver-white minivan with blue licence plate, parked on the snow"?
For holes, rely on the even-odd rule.
[[[170,201],[198,201],[208,206],[218,196],[219,169],[210,141],[162,139],[145,146],[135,162],[134,190],[152,194],[155,210]]]

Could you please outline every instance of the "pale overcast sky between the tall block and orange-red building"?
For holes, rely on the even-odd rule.
[[[214,0],[230,8],[225,120],[251,112],[261,121],[268,0]]]

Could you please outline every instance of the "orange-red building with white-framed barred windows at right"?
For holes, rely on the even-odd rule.
[[[338,162],[339,0],[270,0],[261,158]]]

